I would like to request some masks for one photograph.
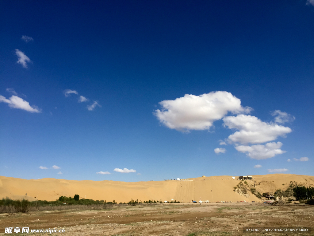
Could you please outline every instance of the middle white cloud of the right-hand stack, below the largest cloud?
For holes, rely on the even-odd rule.
[[[233,143],[265,143],[292,132],[289,127],[266,123],[251,115],[226,116],[223,121],[229,129],[239,130],[228,137]]]

